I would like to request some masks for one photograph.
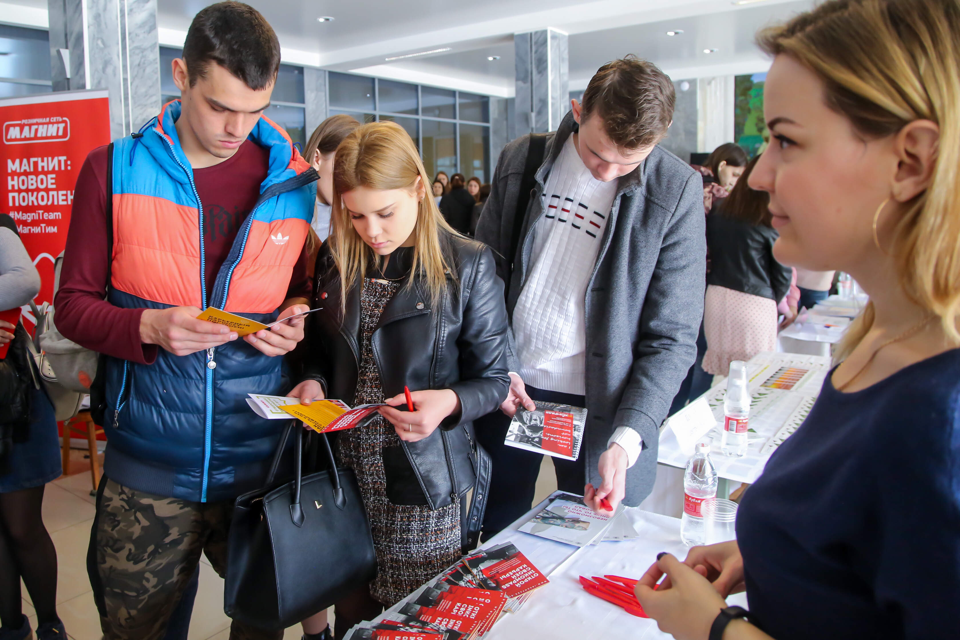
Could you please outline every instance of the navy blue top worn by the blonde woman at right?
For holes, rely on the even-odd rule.
[[[960,638],[960,349],[863,391],[829,377],[736,521],[758,627]]]

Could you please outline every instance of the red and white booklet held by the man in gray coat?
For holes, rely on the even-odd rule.
[[[510,423],[504,444],[564,460],[580,456],[587,410],[583,407],[537,402],[537,409],[519,409]]]

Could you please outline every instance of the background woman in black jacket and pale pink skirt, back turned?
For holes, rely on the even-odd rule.
[[[756,158],[744,178],[755,165]],[[773,256],[780,234],[770,224],[768,201],[767,194],[741,179],[707,217],[710,271],[702,367],[714,375],[727,375],[734,360],[747,361],[777,348],[777,303],[789,291],[793,272]]]

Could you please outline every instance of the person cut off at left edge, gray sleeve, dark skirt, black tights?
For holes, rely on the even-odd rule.
[[[28,304],[40,290],[40,275],[16,232],[13,219],[0,214],[0,311]],[[14,331],[16,342],[14,341]],[[29,354],[21,341],[29,340],[23,327],[0,320],[0,346],[9,344],[8,366],[32,380]],[[19,343],[19,344],[18,344]],[[20,349],[14,353],[14,349]],[[33,382],[26,386],[26,402],[0,390],[0,638],[25,640],[32,636],[23,614],[20,579],[36,610],[36,638],[66,638],[57,615],[57,549],[43,526],[43,489],[60,476],[60,439],[53,405]],[[23,400],[23,398],[19,398]],[[14,406],[21,415],[10,415]]]

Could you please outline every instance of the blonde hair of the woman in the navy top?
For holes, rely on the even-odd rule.
[[[960,342],[960,1],[834,0],[761,31],[757,44],[786,54],[826,85],[827,105],[866,139],[893,135],[915,120],[940,127],[932,179],[909,203],[890,252],[900,286]],[[836,359],[874,323],[868,303]]]

